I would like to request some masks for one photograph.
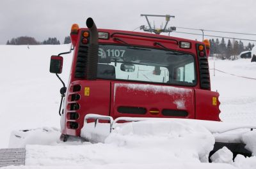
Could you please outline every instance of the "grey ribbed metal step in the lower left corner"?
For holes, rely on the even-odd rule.
[[[25,165],[26,150],[0,149],[0,167],[10,165]]]

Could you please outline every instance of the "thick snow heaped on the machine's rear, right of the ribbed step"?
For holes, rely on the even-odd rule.
[[[207,162],[214,137],[199,124],[140,121],[118,125],[105,143],[26,146],[26,165],[171,164]]]

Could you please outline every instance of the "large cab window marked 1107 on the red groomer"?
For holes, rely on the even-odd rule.
[[[191,54],[144,47],[99,45],[98,78],[195,85]]]

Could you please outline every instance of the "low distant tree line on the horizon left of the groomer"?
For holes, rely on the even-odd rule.
[[[71,43],[70,36],[66,36],[64,44]],[[60,45],[60,41],[57,38],[48,38],[44,41],[36,41],[35,38],[29,36],[20,36],[18,38],[12,38],[8,40],[6,45]]]

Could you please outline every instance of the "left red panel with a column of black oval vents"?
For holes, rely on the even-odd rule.
[[[74,85],[81,85],[81,91],[73,92]],[[77,80],[72,82],[68,91],[67,112],[77,112],[79,118],[76,120],[70,120],[66,117],[66,125],[68,122],[77,122],[79,127],[77,129],[67,128],[67,135],[79,136],[81,128],[84,124],[84,116],[86,114],[100,114],[109,115],[109,103],[110,103],[110,82],[104,80]],[[71,101],[72,94],[79,94],[80,99],[78,101]],[[78,110],[70,110],[70,104],[78,103]]]

